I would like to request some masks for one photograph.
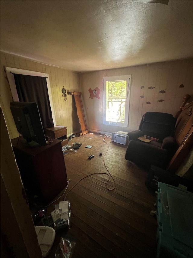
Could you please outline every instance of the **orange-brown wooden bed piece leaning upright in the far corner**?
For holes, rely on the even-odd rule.
[[[68,92],[68,94],[74,96],[75,105],[76,105],[76,108],[77,108],[77,115],[78,115],[78,118],[79,118],[79,123],[81,125],[81,132],[79,132],[77,134],[77,136],[84,135],[89,131],[87,129],[87,124],[86,124],[83,105],[82,105],[82,100],[81,100],[81,94],[82,93],[80,91],[73,91],[73,92],[71,91],[71,92]]]

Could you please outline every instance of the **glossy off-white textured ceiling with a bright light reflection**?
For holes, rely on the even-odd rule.
[[[193,57],[193,1],[1,1],[1,50],[74,71]]]

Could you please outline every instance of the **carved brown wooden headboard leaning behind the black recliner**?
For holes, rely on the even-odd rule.
[[[167,170],[173,173],[178,170],[182,162],[188,157],[188,153],[193,147],[193,101],[186,106],[185,104],[183,107],[181,106],[176,117],[175,139],[179,148],[167,167]]]

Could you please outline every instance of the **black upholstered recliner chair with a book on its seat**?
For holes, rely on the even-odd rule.
[[[166,168],[176,152],[174,139],[176,118],[171,114],[147,112],[142,116],[139,130],[128,132],[129,144],[125,159],[149,169],[151,165]],[[158,141],[149,143],[138,139],[140,136],[150,136]]]

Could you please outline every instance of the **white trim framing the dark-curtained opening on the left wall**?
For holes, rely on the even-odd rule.
[[[7,77],[8,77],[8,81],[9,81],[9,85],[10,85],[10,89],[11,89],[11,94],[13,96],[13,101],[19,101],[19,97],[17,95],[17,89],[16,89],[16,85],[15,85],[14,75],[12,73],[46,77],[48,95],[49,95],[49,102],[50,102],[50,107],[51,107],[51,111],[52,111],[52,119],[53,119],[54,126],[55,126],[56,125],[55,113],[54,113],[54,105],[53,105],[53,101],[52,101],[51,87],[50,87],[50,82],[49,82],[49,74],[48,73],[35,72],[35,71],[22,70],[22,69],[18,69],[18,68],[11,68],[11,67],[5,67],[5,70],[6,70],[6,73],[7,73]]]

